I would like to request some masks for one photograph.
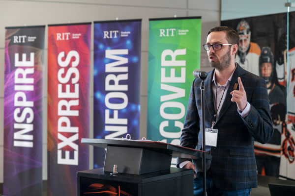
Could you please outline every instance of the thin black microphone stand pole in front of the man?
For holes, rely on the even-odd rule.
[[[206,75],[207,76],[207,75]],[[205,91],[205,85],[204,85],[204,80],[205,78],[200,77],[202,82],[201,82],[201,105],[202,105],[202,135],[203,135],[203,196],[207,196],[206,192],[206,138],[205,138],[205,96],[204,96],[204,91]]]

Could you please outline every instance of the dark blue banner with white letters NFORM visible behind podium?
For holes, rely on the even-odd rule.
[[[139,139],[141,20],[94,22],[94,138]],[[105,150],[94,147],[94,168]]]

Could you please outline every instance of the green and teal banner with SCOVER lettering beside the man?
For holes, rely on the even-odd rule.
[[[193,71],[200,69],[201,17],[150,19],[148,42],[147,139],[179,145]]]

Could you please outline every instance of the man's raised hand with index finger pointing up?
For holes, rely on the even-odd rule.
[[[241,78],[237,78],[239,90],[235,90],[231,92],[231,95],[233,96],[232,102],[236,102],[237,108],[240,111],[243,111],[247,106],[247,95],[246,91],[244,89],[244,86],[242,84]]]

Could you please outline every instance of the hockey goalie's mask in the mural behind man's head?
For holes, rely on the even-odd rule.
[[[251,37],[250,26],[245,20],[241,20],[236,27],[236,31],[240,38],[238,50],[240,52],[246,53],[250,47],[250,37]]]

